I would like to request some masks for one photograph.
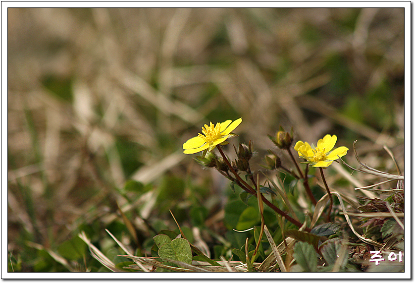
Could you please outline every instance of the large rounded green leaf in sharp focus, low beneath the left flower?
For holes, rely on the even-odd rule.
[[[158,249],[158,256],[161,258],[174,259],[184,263],[192,263],[192,250],[186,239],[178,238],[170,243],[165,243]]]

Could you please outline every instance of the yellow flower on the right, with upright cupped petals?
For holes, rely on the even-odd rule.
[[[312,147],[306,142],[298,141],[294,149],[298,152],[298,156],[307,159],[312,167],[328,167],[334,160],[343,157],[349,150],[345,146],[338,147],[331,151],[336,144],[336,135],[325,135],[324,138],[318,140],[317,147]],[[330,152],[331,151],[331,152]]]

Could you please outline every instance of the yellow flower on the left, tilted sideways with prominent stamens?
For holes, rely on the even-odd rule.
[[[202,127],[202,133],[199,133],[197,137],[193,137],[183,144],[183,153],[192,154],[204,151],[205,149],[208,152],[212,151],[216,145],[233,136],[231,132],[239,126],[242,118],[231,122],[232,120],[227,120],[223,123],[216,123],[216,125],[213,125],[212,122],[210,122],[209,126],[205,124]]]

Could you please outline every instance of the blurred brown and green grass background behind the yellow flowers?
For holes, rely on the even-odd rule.
[[[230,142],[253,141],[254,169],[282,125],[358,140],[396,173],[386,144],[404,173],[403,8],[8,8],[7,23],[13,268],[94,270],[70,240],[85,230],[105,249],[123,218],[138,246],[174,229],[169,209],[206,224],[232,191],[182,144],[209,121],[243,118]]]

